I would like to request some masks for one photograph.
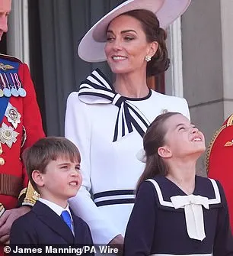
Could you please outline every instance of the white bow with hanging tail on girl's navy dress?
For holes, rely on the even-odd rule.
[[[203,241],[206,238],[203,207],[209,209],[209,199],[204,196],[171,196],[175,209],[184,208],[187,233],[190,238]]]

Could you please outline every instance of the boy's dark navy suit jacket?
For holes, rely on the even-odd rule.
[[[10,235],[11,245],[93,245],[87,223],[78,218],[72,209],[70,210],[75,235],[56,212],[37,201],[30,212],[13,223]]]

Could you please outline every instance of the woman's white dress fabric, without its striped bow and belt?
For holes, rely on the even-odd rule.
[[[180,112],[190,118],[185,99],[152,91],[145,100],[129,101],[149,122],[163,109]],[[134,190],[145,164],[137,160],[142,137],[133,131],[113,142],[113,131],[119,108],[113,104],[85,104],[72,92],[67,100],[65,137],[81,152],[83,183],[77,196],[69,200],[76,215],[91,228],[94,244],[107,244],[116,235],[124,235],[133,204],[97,207],[89,193],[108,190]]]

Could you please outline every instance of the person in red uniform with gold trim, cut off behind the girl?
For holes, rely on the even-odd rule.
[[[219,180],[228,202],[233,232],[233,115],[229,116],[209,144],[207,152],[208,176]]]

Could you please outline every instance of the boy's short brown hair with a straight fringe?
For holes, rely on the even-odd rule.
[[[40,173],[45,173],[46,166],[49,162],[59,157],[67,157],[72,162],[80,162],[81,160],[78,147],[67,138],[62,137],[41,138],[33,146],[24,151],[23,160],[27,169],[27,176],[34,190],[38,193],[37,184],[32,179],[33,171],[39,170]]]

